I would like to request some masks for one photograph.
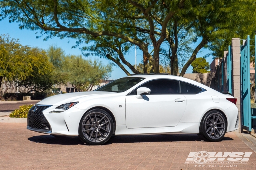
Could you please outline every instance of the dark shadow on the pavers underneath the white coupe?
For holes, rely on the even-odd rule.
[[[78,137],[54,137],[52,135],[39,135],[28,138],[28,140],[37,143],[46,143],[52,145],[85,145]],[[222,141],[233,140],[230,137],[224,137]],[[177,134],[177,135],[122,135],[112,136],[104,145],[112,143],[140,143],[140,142],[177,142],[177,141],[203,141],[197,134]]]

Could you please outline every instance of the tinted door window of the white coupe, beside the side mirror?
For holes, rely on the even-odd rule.
[[[146,82],[140,87],[147,87],[151,90],[150,95],[179,94],[179,81],[159,79]]]

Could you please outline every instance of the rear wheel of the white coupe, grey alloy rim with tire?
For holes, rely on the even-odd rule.
[[[220,141],[227,131],[227,121],[218,111],[210,111],[204,115],[199,129],[199,136],[208,141]]]

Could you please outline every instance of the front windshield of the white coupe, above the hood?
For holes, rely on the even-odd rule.
[[[124,92],[134,85],[138,84],[145,78],[140,77],[125,77],[121,79],[117,79],[111,83],[108,83],[100,88],[97,88],[94,91],[109,91],[109,92]]]

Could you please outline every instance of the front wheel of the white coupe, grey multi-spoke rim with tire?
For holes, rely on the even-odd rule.
[[[108,112],[93,109],[79,123],[79,138],[89,145],[102,145],[111,138],[113,127],[114,123]]]

